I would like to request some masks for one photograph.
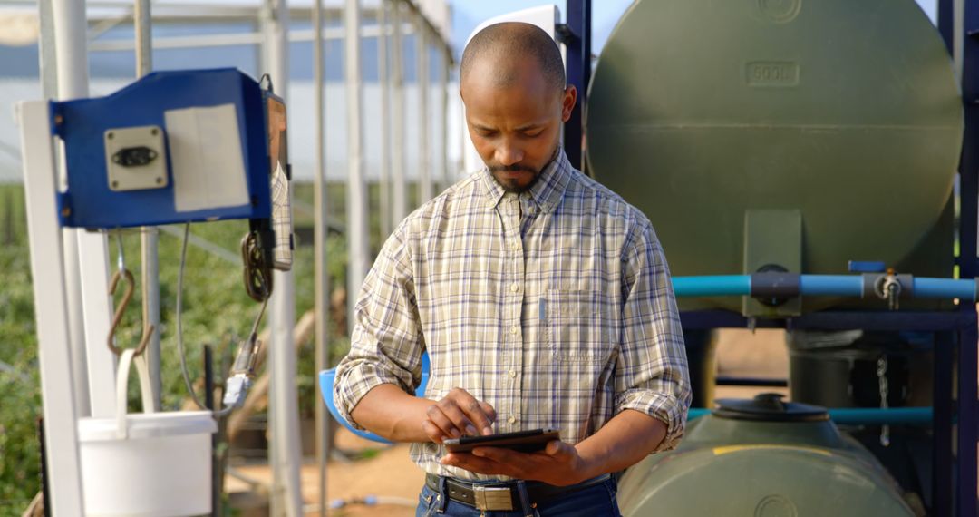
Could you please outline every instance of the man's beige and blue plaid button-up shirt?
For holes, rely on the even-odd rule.
[[[564,153],[526,193],[489,170],[409,215],[388,239],[354,308],[334,400],[350,411],[389,383],[425,397],[459,387],[496,409],[497,433],[554,428],[577,444],[624,409],[662,420],[676,447],[690,404],[667,263],[649,220]],[[425,471],[486,479],[412,444]]]

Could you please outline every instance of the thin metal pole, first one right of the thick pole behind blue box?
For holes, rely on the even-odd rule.
[[[323,120],[323,0],[315,0],[312,7],[313,29],[313,96],[316,110],[316,165],[313,175],[313,274],[315,276],[315,295],[313,303],[316,311],[316,371],[322,371],[330,365],[329,336],[327,334],[327,318],[329,313],[330,286],[326,269],[326,178],[324,159],[324,120]],[[326,494],[326,462],[330,457],[329,437],[330,420],[326,413],[326,404],[314,404],[316,416],[316,463],[319,465],[319,515],[326,517],[326,504],[329,498]]]

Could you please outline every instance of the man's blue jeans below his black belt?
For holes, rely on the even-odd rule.
[[[515,507],[511,511],[487,511],[480,510],[455,500],[448,499],[444,504],[444,495],[433,491],[427,486],[422,489],[418,497],[418,508],[415,510],[415,517],[534,517],[551,516],[582,516],[582,517],[620,517],[619,503],[616,501],[616,484],[612,478],[602,483],[568,494],[560,494],[550,499],[538,502],[536,507],[531,508],[532,513],[525,514],[521,509],[520,501],[514,501]]]

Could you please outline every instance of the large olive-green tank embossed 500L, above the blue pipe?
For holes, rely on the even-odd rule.
[[[586,113],[590,171],[646,213],[675,275],[859,259],[948,277],[961,139],[951,59],[913,0],[637,1]]]

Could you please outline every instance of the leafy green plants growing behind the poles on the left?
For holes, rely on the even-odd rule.
[[[414,189],[412,189],[413,191]],[[297,185],[296,198],[305,206],[312,205],[312,186]],[[329,189],[329,214],[343,221],[345,191],[341,184]],[[377,186],[371,187],[371,198],[377,199]],[[37,419],[41,415],[41,392],[37,361],[37,338],[34,323],[34,299],[30,279],[26,217],[21,185],[0,185],[0,517],[21,515],[30,499],[40,490],[40,443],[37,439]],[[297,226],[310,225],[311,213],[294,211]],[[205,239],[238,256],[239,243],[247,230],[245,221],[218,221],[195,224],[194,236]],[[371,248],[382,244],[377,231],[377,213],[372,212]],[[182,233],[183,226],[173,226]],[[110,239],[110,262],[116,266],[117,240]],[[187,400],[187,390],[180,373],[176,347],[176,284],[179,270],[181,239],[162,232],[159,241],[161,322],[161,377],[164,410],[178,409]],[[313,280],[313,251],[311,243],[300,243],[294,261],[296,316],[312,308],[315,288]],[[127,232],[123,251],[127,267],[137,278],[136,296],[122,318],[117,337],[123,346],[135,343],[140,327],[141,276],[139,237]],[[330,286],[337,290],[346,287],[347,242],[331,233],[326,240],[327,273]],[[122,292],[121,289],[118,290]],[[117,297],[117,300],[118,301]],[[328,297],[332,300],[332,297]],[[340,311],[343,312],[343,307]],[[194,246],[187,252],[183,287],[183,341],[190,377],[203,378],[203,347],[214,347],[215,362],[227,348],[237,349],[238,340],[245,339],[251,330],[258,305],[242,286],[240,262],[220,258]],[[331,310],[331,314],[335,313]],[[266,313],[265,321],[268,321]],[[336,365],[350,349],[346,333],[329,325],[330,366]],[[312,340],[306,342],[298,356],[297,382],[300,408],[311,414],[319,400]],[[220,375],[215,371],[215,375]],[[215,379],[220,382],[220,379]],[[137,400],[137,383],[130,382],[130,400]],[[203,391],[199,390],[199,393]],[[133,408],[139,406],[131,403]]]

